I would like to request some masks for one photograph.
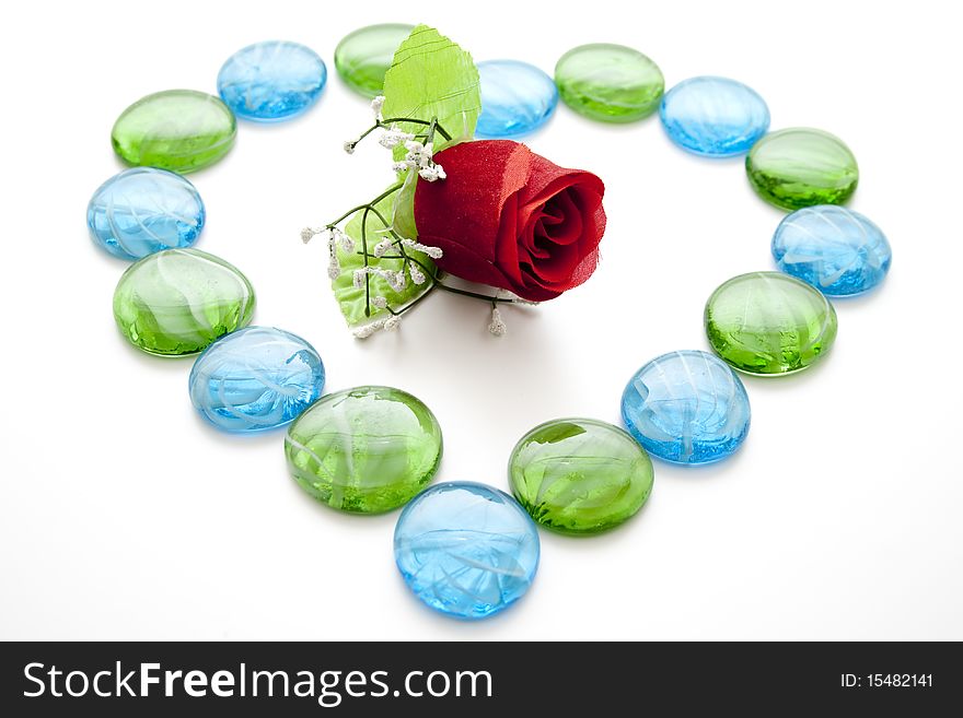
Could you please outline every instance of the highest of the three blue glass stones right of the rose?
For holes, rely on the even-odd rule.
[[[691,78],[662,97],[662,127],[683,150],[709,157],[745,154],[769,129],[769,108],[728,78]]]

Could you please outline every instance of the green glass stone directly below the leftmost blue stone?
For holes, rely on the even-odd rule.
[[[235,267],[197,249],[165,249],[127,268],[114,291],[120,332],[149,354],[196,354],[245,327],[254,287]]]

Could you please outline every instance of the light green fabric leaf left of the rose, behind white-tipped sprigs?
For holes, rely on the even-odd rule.
[[[380,202],[378,202],[378,204],[375,204],[378,211],[382,213],[382,215],[388,221],[388,223],[392,222],[395,198],[398,196],[398,193],[399,192],[394,192],[392,195],[388,195]],[[355,240],[356,247],[355,251],[352,252],[346,252],[344,249],[338,247],[338,261],[341,264],[341,272],[340,274],[338,274],[338,278],[332,282],[332,291],[335,294],[338,306],[341,308],[341,314],[345,315],[345,319],[350,327],[366,325],[380,316],[387,316],[386,310],[378,309],[376,307],[371,305],[371,317],[367,317],[364,315],[364,307],[367,305],[364,287],[362,286],[359,290],[355,286],[355,270],[361,269],[364,266],[364,258],[360,254],[358,254],[361,251],[362,248],[361,222],[363,215],[364,210],[356,212],[345,227],[345,233]],[[382,228],[384,228],[384,225],[381,223],[381,220],[378,219],[378,215],[373,212],[369,212],[367,222],[369,254],[373,252],[374,245],[376,245],[386,236],[384,234],[378,233],[378,231]],[[414,257],[419,262],[425,264],[432,274],[434,273],[434,263],[431,261],[431,259],[428,258],[428,256],[421,254],[420,251],[415,251],[410,248],[405,248],[405,251],[409,257]],[[391,256],[397,256],[398,252],[393,249],[390,250],[387,254]],[[404,267],[404,260],[402,259],[369,258],[368,263],[372,267],[380,267],[382,269],[391,271],[402,271],[402,268]],[[396,311],[405,305],[410,304],[413,301],[425,294],[425,292],[427,292],[431,287],[430,280],[425,282],[425,284],[418,285],[411,281],[410,276],[407,276],[405,287],[401,292],[395,292],[393,289],[391,289],[391,285],[388,285],[388,283],[380,276],[369,275],[368,282],[371,299],[374,299],[374,297],[376,296],[383,296],[387,299],[388,306],[391,306]]]

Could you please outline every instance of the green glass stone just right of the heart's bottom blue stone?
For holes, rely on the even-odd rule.
[[[649,455],[626,432],[593,419],[536,426],[509,459],[512,493],[538,523],[597,533],[638,511],[652,491]]]

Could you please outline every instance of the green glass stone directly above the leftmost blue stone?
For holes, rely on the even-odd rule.
[[[124,162],[188,173],[212,165],[234,145],[237,123],[219,98],[194,90],[167,90],[121,113],[111,142]]]

